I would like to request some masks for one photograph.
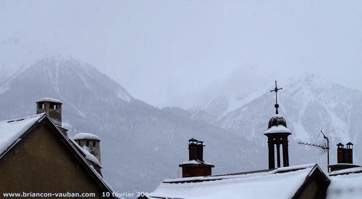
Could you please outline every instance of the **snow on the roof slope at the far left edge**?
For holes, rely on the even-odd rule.
[[[45,113],[41,113],[23,118],[0,121],[0,154],[14,143],[44,114]]]

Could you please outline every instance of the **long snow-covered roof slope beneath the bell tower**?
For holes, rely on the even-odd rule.
[[[309,164],[255,173],[167,179],[147,197],[150,199],[290,199],[317,168],[319,169],[316,164]]]

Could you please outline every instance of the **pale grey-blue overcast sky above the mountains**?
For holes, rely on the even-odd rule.
[[[59,46],[158,106],[302,71],[362,89],[361,0],[0,2],[0,40],[24,33]]]

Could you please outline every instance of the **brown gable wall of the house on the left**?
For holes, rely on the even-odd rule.
[[[47,125],[24,141],[12,156],[0,163],[1,195],[95,193],[95,198],[87,199],[102,199],[101,187]]]

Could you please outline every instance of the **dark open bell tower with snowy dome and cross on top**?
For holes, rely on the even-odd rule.
[[[276,148],[276,164],[280,167],[280,145],[282,146],[283,153],[283,167],[289,166],[289,155],[288,155],[288,136],[291,135],[290,130],[286,127],[286,121],[282,115],[278,113],[278,101],[277,92],[283,88],[271,90],[275,92],[275,114],[271,116],[268,124],[268,130],[264,133],[268,137],[268,150],[269,150],[269,169],[275,169],[274,153]]]

